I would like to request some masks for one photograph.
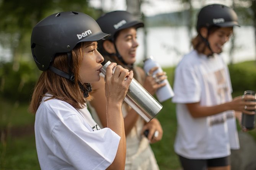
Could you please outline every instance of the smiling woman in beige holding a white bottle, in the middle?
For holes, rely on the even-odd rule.
[[[164,86],[164,83],[157,83],[152,76],[145,75],[140,67],[134,66],[136,61],[137,28],[144,24],[127,11],[112,11],[104,14],[96,20],[103,30],[110,36],[99,42],[98,50],[103,55],[104,61],[112,61],[124,68],[134,71],[135,79],[143,85],[152,95],[155,91]],[[157,69],[150,70],[151,73]],[[165,73],[159,73],[160,80],[166,79]],[[104,78],[99,82],[92,83],[95,91],[90,94],[93,100],[90,101],[90,109],[93,118],[101,127],[106,127],[106,98],[101,96],[105,93]],[[100,103],[100,104],[99,104]],[[150,148],[150,143],[155,143],[162,138],[163,130],[157,119],[146,123],[128,104],[122,106],[124,115],[124,126],[126,132],[126,170],[157,170],[158,165],[155,156]],[[143,135],[149,130],[148,137]]]

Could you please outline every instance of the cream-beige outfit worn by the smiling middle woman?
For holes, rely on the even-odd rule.
[[[137,74],[137,81],[142,82],[137,67],[134,67],[134,72]],[[104,75],[101,75],[104,77]],[[103,87],[104,88],[104,87]],[[88,103],[91,115],[96,123],[100,127],[101,124],[98,114],[93,106]],[[122,104],[122,114],[125,118],[128,114],[130,106],[124,102]],[[142,128],[145,125],[145,121],[139,116],[135,125],[130,130],[130,133],[126,135],[126,165],[125,170],[159,170],[157,160],[150,147],[148,139],[141,135]]]

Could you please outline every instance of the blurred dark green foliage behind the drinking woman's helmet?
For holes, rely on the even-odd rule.
[[[60,11],[80,11],[93,18],[100,13],[86,0],[0,0],[0,47],[8,49],[8,63],[1,61],[0,97],[26,101],[40,71],[30,48],[33,27],[43,18]]]

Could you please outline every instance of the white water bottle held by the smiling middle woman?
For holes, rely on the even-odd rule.
[[[145,72],[148,72],[153,67],[158,67],[158,69],[153,72],[153,75],[157,74],[158,72],[163,72],[161,66],[153,59],[152,56],[150,56],[149,58],[144,60],[143,69]],[[161,83],[166,83],[166,85],[157,89],[156,96],[158,101],[163,102],[167,99],[172,98],[174,96],[174,93],[167,79],[163,80]]]

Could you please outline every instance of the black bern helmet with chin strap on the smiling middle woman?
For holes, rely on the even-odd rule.
[[[112,11],[99,17],[96,21],[101,27],[101,30],[110,35],[107,38],[107,40],[110,40],[113,43],[115,42],[114,40],[115,34],[120,30],[129,28],[129,27],[135,27],[136,29],[140,27],[144,27],[144,24],[142,21],[139,21],[137,18],[135,18],[135,16],[133,16],[131,13],[127,11]],[[99,43],[99,48],[103,48],[101,46],[102,46],[102,42]],[[116,48],[115,44],[114,46]],[[116,48],[116,56],[123,64],[126,64],[122,59],[122,56],[117,51],[117,48]]]

